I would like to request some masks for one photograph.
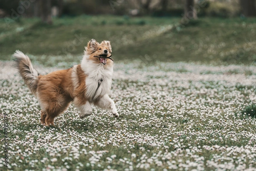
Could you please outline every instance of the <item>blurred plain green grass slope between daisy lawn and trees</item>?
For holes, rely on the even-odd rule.
[[[80,61],[91,38],[109,40],[113,58],[154,61],[201,61],[251,64],[256,61],[255,18],[200,18],[180,26],[178,17],[80,16],[55,18],[52,26],[38,19],[0,19],[0,59],[10,60],[16,49],[44,55],[36,61],[51,66],[47,56]],[[173,27],[172,27],[173,26]]]

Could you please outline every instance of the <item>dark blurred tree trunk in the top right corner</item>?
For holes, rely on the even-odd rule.
[[[246,17],[256,16],[255,0],[240,0],[241,12]]]

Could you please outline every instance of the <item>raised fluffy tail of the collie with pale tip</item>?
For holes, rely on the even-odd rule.
[[[20,72],[20,75],[24,79],[30,91],[35,94],[38,85],[38,76],[40,74],[33,68],[29,57],[24,53],[16,50],[13,57],[15,58],[15,65]]]

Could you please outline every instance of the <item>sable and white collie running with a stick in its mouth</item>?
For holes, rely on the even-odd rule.
[[[111,110],[118,117],[116,106],[110,99],[113,75],[110,41],[98,43],[92,39],[85,47],[81,64],[67,70],[40,75],[27,55],[17,50],[15,64],[30,91],[41,106],[41,123],[54,125],[56,116],[67,109],[70,102],[80,110],[80,118],[93,113],[91,105]]]

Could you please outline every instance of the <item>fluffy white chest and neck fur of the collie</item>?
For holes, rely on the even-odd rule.
[[[99,97],[109,94],[112,84],[113,67],[95,64],[84,56],[81,62],[81,68],[87,75],[85,80],[86,98],[94,101]]]

